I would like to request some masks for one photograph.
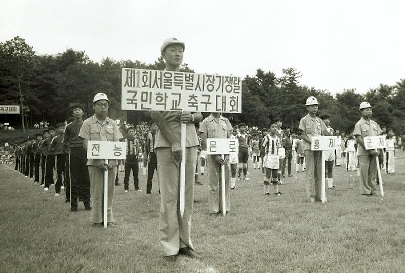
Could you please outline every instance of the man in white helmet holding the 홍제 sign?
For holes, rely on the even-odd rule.
[[[323,135],[327,132],[325,123],[316,116],[318,100],[314,96],[308,97],[305,103],[308,115],[301,118],[299,129],[302,130],[304,156],[306,162],[307,200],[310,203],[321,200],[322,184],[322,151],[311,151],[312,136]]]

